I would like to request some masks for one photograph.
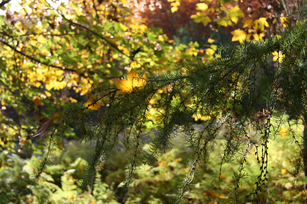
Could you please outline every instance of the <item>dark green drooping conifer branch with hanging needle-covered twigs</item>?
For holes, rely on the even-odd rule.
[[[267,144],[274,140],[280,126],[289,121],[306,125],[307,22],[299,20],[299,15],[304,12],[292,14],[292,23],[278,36],[220,47],[222,56],[228,54],[220,59],[205,63],[185,62],[169,74],[147,74],[143,78],[146,86],[137,88],[132,94],[116,94],[115,85],[93,87],[87,97],[94,98],[93,104],[99,101],[107,104],[104,114],[94,123],[90,121],[84,103],[76,103],[56,118],[49,129],[51,137],[47,138],[47,150],[37,176],[52,157],[55,137],[76,124],[80,140],[95,141],[80,188],[86,190],[91,185],[92,176],[122,143],[128,150],[129,165],[120,188],[127,191],[132,179],[138,175],[138,168],[150,164],[158,154],[172,148],[172,139],[182,133],[193,156],[173,203],[184,201],[193,187],[197,168],[206,165],[218,138],[225,140],[221,164],[239,163],[232,178],[231,203],[240,202],[239,189],[248,176],[244,171],[245,162],[251,148],[256,147],[257,151],[253,153],[258,158],[259,176],[254,191],[244,196],[253,196],[257,200],[268,176],[270,156]],[[272,61],[272,53],[277,53],[276,63]],[[151,104],[157,94],[160,99]],[[156,109],[159,115],[155,124],[157,133],[145,151],[146,141],[141,127],[149,108]],[[193,125],[195,115],[211,119],[204,121],[202,129],[198,130]],[[284,116],[288,117],[286,123]],[[292,172],[297,177],[302,171],[307,172],[307,134],[304,130],[303,135],[297,136],[290,123],[289,132],[299,150]],[[258,141],[252,141],[251,134]]]

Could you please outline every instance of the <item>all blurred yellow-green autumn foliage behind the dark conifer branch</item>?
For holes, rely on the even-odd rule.
[[[230,0],[2,0],[0,2],[0,203],[169,203],[186,171],[190,152],[184,141],[152,166],[142,167],[127,195],[116,188],[124,180],[126,152],[101,167],[88,191],[78,189],[92,144],[79,143],[71,127],[57,141],[54,158],[38,185],[31,185],[44,142],[26,140],[39,119],[55,118],[74,102],[84,101],[94,84],[114,83],[134,68],[169,72],[183,60],[208,61],[223,57],[218,45],[259,40],[282,31],[304,1]],[[226,55],[227,53],[224,53]],[[277,53],[275,53],[277,57]],[[276,61],[272,59],[273,61]],[[153,102],[157,101],[153,99]],[[91,112],[93,123],[104,108]],[[155,120],[155,110],[152,120]],[[195,125],[206,116],[195,116]],[[298,128],[298,133],[301,131]],[[142,127],[154,133],[152,122]],[[199,169],[190,189],[191,203],[226,203],[233,166],[222,165],[218,142],[211,164]],[[288,171],[296,148],[287,129],[270,144],[270,181],[265,203],[296,203],[305,195],[304,181],[293,183]],[[287,151],[284,151],[287,149]],[[253,155],[251,155],[253,158]],[[248,160],[250,175],[242,191],[252,188],[256,157]],[[32,194],[32,195],[31,195]],[[249,199],[242,203],[250,202]]]

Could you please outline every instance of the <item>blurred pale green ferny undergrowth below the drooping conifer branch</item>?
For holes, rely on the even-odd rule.
[[[197,125],[196,125],[197,126]],[[298,128],[298,133],[300,133]],[[269,144],[270,161],[268,162],[268,182],[262,189],[263,203],[300,203],[305,196],[304,179],[293,183],[294,177],[289,174],[296,158],[296,145],[289,143],[287,134],[280,132],[278,138]],[[153,135],[150,135],[151,138]],[[251,139],[256,139],[251,136]],[[117,191],[118,185],[125,179],[127,165],[126,152],[118,149],[110,159],[101,166],[92,186],[88,191],[78,189],[82,178],[83,166],[89,159],[90,144],[76,141],[66,141],[65,148],[56,148],[54,158],[48,171],[41,175],[37,185],[29,187],[30,177],[36,172],[39,155],[22,158],[17,153],[0,153],[0,202],[1,203],[170,203],[170,198],[177,191],[177,184],[186,173],[186,162],[191,152],[188,152],[182,135],[175,138],[176,145],[165,155],[159,155],[151,166],[140,167],[139,177],[135,178],[127,195]],[[227,203],[233,173],[239,164],[223,164],[219,180],[222,159],[220,149],[223,140],[217,141],[212,151],[212,157],[206,168],[198,168],[193,182],[193,189],[186,198],[189,203]],[[122,146],[124,148],[124,146]],[[145,147],[146,148],[146,147]],[[285,149],[287,151],[285,151]],[[255,152],[255,147],[251,150]],[[253,191],[259,173],[257,156],[251,154],[246,163],[248,173],[241,192],[247,194]],[[252,198],[242,200],[251,203]]]

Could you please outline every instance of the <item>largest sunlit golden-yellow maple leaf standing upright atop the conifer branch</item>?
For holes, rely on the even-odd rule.
[[[127,75],[127,79],[115,78],[115,85],[120,89],[117,94],[131,94],[137,88],[144,87],[146,85],[146,79],[144,76],[141,78],[134,68],[132,68]]]

